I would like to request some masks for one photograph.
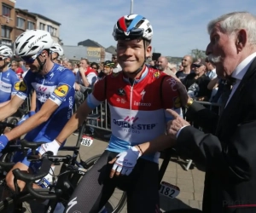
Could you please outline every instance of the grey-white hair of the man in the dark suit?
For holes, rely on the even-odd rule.
[[[240,29],[247,31],[248,43],[256,44],[256,16],[248,12],[233,12],[224,14],[215,20],[211,20],[207,26],[207,31],[211,34],[213,27],[219,23],[220,30],[224,33],[232,34]]]

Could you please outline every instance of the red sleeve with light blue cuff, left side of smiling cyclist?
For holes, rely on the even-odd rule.
[[[88,95],[86,101],[87,105],[94,109],[97,106],[99,106],[103,101],[106,100],[106,88],[105,83],[107,81],[107,77],[100,78],[96,81],[94,84],[94,87],[92,89],[92,93]]]

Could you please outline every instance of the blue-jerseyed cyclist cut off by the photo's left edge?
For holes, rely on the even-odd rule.
[[[0,46],[0,107],[3,107],[14,97],[19,89],[20,79],[9,68],[13,51],[5,46]]]

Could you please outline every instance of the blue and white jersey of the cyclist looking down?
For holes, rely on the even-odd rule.
[[[58,64],[55,64],[51,71],[44,76],[31,71],[26,73],[25,78],[20,83],[17,96],[25,100],[31,94],[32,89],[35,89],[37,93],[36,112],[48,99],[59,106],[46,122],[26,134],[25,139],[27,141],[49,142],[59,135],[62,128],[67,124],[67,120],[72,116],[74,82],[73,72]]]

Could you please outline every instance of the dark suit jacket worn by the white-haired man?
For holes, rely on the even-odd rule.
[[[206,164],[203,212],[256,212],[256,58],[220,118],[198,103],[187,113],[209,132],[185,127],[183,154]]]

